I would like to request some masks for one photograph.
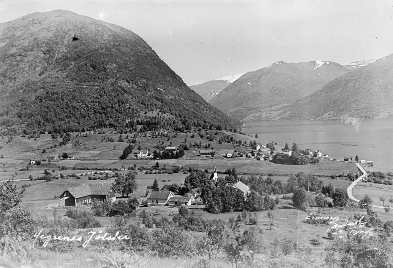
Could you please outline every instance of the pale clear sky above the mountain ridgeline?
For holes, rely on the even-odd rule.
[[[393,0],[0,0],[0,23],[56,9],[137,33],[188,85],[393,53]]]

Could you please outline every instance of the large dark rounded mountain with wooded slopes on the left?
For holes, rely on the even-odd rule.
[[[237,125],[134,32],[55,10],[0,24],[0,126],[31,131]]]

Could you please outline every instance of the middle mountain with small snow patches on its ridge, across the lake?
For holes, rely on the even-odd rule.
[[[246,73],[228,85],[210,103],[245,121],[269,120],[298,97],[307,96],[350,70],[335,62],[276,62]]]

